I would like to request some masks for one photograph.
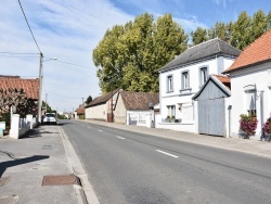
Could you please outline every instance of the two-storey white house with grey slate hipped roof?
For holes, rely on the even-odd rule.
[[[196,132],[197,107],[192,98],[210,74],[221,74],[231,66],[240,52],[217,38],[189,48],[162,67],[159,69],[160,119],[156,123],[156,127]],[[168,123],[167,117],[178,120]]]

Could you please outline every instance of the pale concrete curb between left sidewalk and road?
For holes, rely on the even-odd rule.
[[[82,187],[76,187],[77,199],[79,204],[100,204],[95,192],[89,182],[88,175],[83,169],[83,166],[77,156],[68,137],[65,131],[59,126],[60,132],[62,135],[62,142],[65,149],[67,161],[69,164],[70,171],[80,178]]]

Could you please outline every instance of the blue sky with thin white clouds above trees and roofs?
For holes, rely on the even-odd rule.
[[[101,94],[93,49],[106,29],[142,13],[171,13],[186,34],[216,22],[236,21],[271,10],[270,0],[1,0],[0,75],[38,78],[42,52],[42,100],[60,112],[75,111],[89,95]],[[57,60],[52,60],[56,58]],[[47,95],[47,97],[46,97]]]

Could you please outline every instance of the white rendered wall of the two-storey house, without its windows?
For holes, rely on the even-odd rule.
[[[182,124],[179,129],[180,131],[190,131],[190,132],[196,132],[197,130],[197,124],[195,124],[196,120],[196,115],[197,110],[196,106],[193,105],[192,98],[194,94],[199,90],[199,69],[201,67],[208,67],[208,74],[221,74],[218,71],[224,71],[228,67],[231,66],[231,64],[234,62],[233,59],[224,59],[222,56],[220,58],[215,58],[209,61],[204,61],[197,64],[192,64],[190,66],[185,67],[180,67],[176,68],[172,71],[168,71],[165,73],[159,74],[159,103],[160,103],[160,117],[162,122],[165,120],[165,118],[168,115],[168,109],[167,106],[169,105],[175,105],[176,106],[176,118],[179,119]],[[221,66],[221,67],[218,67]],[[181,74],[184,71],[189,71],[190,75],[190,88],[191,88],[191,93],[189,94],[189,91],[183,91],[182,95],[180,94],[180,90],[182,89],[181,86]],[[173,76],[173,91],[172,92],[167,92],[167,76],[172,75]],[[184,94],[188,93],[188,94]],[[184,110],[179,110],[179,104],[182,103],[185,109],[186,113],[191,113],[190,116],[186,118],[183,118]],[[160,124],[158,125],[159,127],[166,126],[166,124]],[[167,125],[168,127],[173,127],[172,124]],[[167,127],[167,128],[168,128]],[[170,128],[175,129],[175,128]]]

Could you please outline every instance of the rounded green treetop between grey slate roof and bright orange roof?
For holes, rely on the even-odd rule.
[[[251,42],[251,18],[243,11],[235,22],[232,30],[231,44],[240,50]]]

